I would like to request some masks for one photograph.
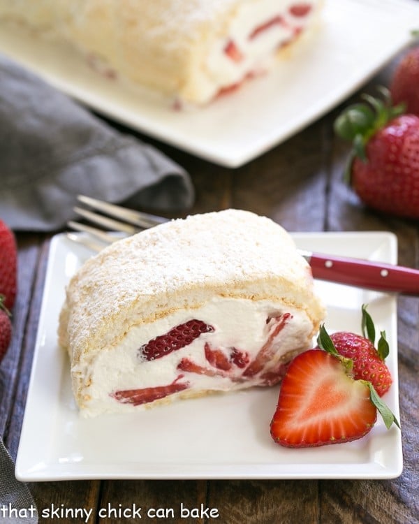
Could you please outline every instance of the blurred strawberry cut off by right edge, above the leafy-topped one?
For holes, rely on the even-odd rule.
[[[390,84],[395,103],[406,104],[406,112],[419,116],[419,46],[404,54]]]

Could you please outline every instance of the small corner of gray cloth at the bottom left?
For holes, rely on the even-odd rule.
[[[15,479],[15,466],[0,438],[0,522],[36,524],[38,511],[27,485]]]

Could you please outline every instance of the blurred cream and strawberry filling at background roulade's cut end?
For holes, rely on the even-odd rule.
[[[318,4],[318,0],[243,2],[228,36],[216,42],[194,75],[191,89],[199,93],[200,102],[272,67],[277,50],[311,24]],[[184,97],[189,98],[187,87]]]

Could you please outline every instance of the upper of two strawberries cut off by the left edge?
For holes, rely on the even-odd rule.
[[[15,237],[0,220],[0,294],[4,298],[4,305],[12,310],[16,296],[16,269],[17,254]]]

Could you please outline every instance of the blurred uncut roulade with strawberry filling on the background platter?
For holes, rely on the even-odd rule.
[[[272,67],[321,0],[0,0],[0,20],[69,44],[113,80],[203,105]]]

